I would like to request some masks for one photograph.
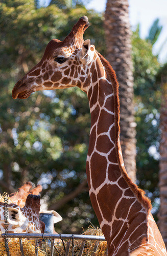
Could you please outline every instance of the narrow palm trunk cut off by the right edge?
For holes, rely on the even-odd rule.
[[[158,226],[167,248],[167,75],[162,76],[160,130],[159,190],[161,203]]]

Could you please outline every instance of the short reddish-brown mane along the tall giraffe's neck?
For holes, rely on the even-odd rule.
[[[140,189],[128,176],[125,166],[121,165],[120,154],[118,153],[118,138],[120,135],[120,99],[119,99],[119,84],[116,78],[115,71],[111,67],[110,63],[98,52],[98,55],[102,61],[103,66],[106,69],[107,74],[110,77],[112,87],[113,87],[113,94],[114,94],[114,108],[115,108],[115,147],[116,147],[116,155],[118,164],[121,170],[121,173],[128,184],[131,191],[134,193],[138,202],[146,208],[148,214],[152,209],[151,200],[145,196],[145,191]]]

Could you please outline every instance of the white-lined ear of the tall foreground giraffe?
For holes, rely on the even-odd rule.
[[[90,50],[90,40],[89,39],[87,39],[86,41],[83,42],[82,49],[79,51],[78,54],[79,54],[79,56],[78,56],[79,60],[84,65],[87,65],[92,61],[94,52],[92,52]]]

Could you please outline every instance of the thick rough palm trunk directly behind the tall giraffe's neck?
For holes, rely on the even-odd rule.
[[[136,123],[133,105],[133,73],[131,57],[131,29],[128,0],[108,0],[105,11],[107,59],[120,83],[121,145],[125,167],[130,178],[136,180]]]

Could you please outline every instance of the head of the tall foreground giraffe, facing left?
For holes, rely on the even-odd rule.
[[[82,16],[63,41],[51,40],[41,61],[15,84],[12,97],[25,99],[35,91],[75,86],[83,89],[86,67],[94,55],[90,40],[83,40],[88,26],[88,18]]]

